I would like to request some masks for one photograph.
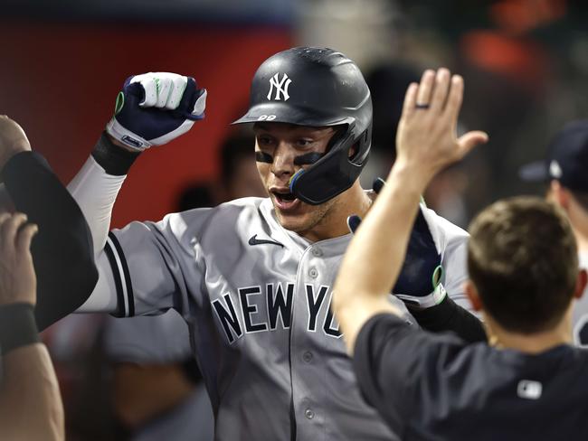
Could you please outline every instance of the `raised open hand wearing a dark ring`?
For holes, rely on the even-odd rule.
[[[447,69],[425,70],[420,84],[406,91],[396,135],[397,164],[409,165],[425,183],[459,161],[475,145],[488,141],[480,131],[456,136],[463,79]]]

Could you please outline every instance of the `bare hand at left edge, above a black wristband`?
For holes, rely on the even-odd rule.
[[[37,226],[23,213],[0,214],[0,305],[36,303],[31,240]]]

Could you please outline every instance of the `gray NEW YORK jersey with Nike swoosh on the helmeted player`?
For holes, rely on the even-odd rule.
[[[466,305],[467,233],[423,210],[444,286]],[[280,226],[270,199],[245,198],[132,222],[105,252],[120,314],[184,316],[216,439],[397,439],[365,404],[330,309],[350,239],[310,243]]]

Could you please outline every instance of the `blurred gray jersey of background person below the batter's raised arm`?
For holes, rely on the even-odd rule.
[[[173,310],[155,317],[109,318],[104,347],[110,361],[137,364],[182,363],[193,355],[185,321]],[[213,432],[213,409],[201,383],[188,399],[140,427],[131,439],[211,441]]]

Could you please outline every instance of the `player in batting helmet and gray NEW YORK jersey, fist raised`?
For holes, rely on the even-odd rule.
[[[296,48],[257,70],[251,108],[237,122],[254,123],[269,198],[132,222],[107,238],[112,205],[138,155],[129,151],[165,144],[204,114],[205,93],[179,75],[132,77],[120,96],[107,133],[70,185],[100,267],[80,312],[182,314],[216,439],[397,439],[362,399],[330,309],[350,240],[346,218],[364,215],[372,202],[357,181],[372,108],[355,63],[340,52]],[[406,292],[398,294],[428,308],[447,301],[445,286],[463,302],[467,233],[424,207],[422,215],[433,252],[403,268]],[[432,284],[440,264],[442,284]]]

